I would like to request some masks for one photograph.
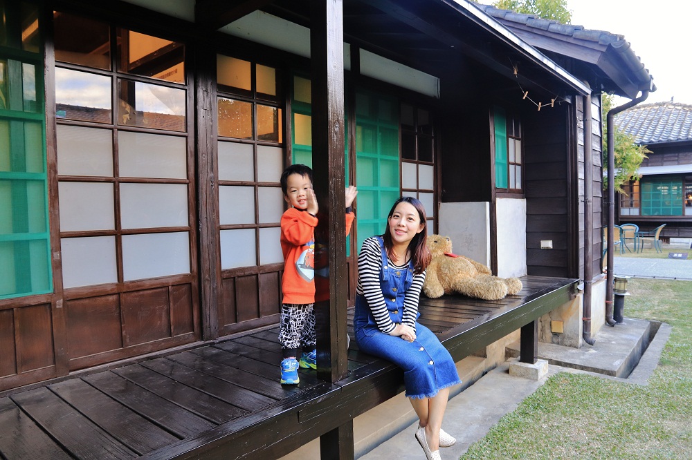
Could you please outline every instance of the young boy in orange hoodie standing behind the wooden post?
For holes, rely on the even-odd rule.
[[[318,204],[312,189],[312,169],[293,164],[281,175],[281,189],[289,209],[281,216],[281,249],[284,253],[281,305],[281,383],[295,385],[298,366],[317,369],[315,337],[315,227]],[[346,234],[354,219],[351,204],[356,187],[346,189]],[[296,359],[300,354],[300,363]]]

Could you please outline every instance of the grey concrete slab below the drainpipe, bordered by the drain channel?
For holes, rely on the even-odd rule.
[[[614,327],[601,327],[593,346],[584,344],[581,348],[570,348],[539,342],[538,358],[552,365],[627,378],[637,367],[655,332],[649,321],[624,318],[623,323]],[[507,357],[518,356],[519,341],[516,341],[507,347]]]

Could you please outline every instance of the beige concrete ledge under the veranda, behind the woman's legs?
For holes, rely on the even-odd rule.
[[[487,361],[486,358],[478,356],[468,356],[468,358],[459,361],[457,363],[457,372],[459,372],[459,377],[463,383],[450,389],[450,398],[464,391],[478,381],[486,372],[489,372],[490,369]],[[415,421],[417,421],[416,413],[413,411],[408,399],[403,396],[403,393],[397,394],[397,396],[385,401],[376,408],[357,416],[353,422],[354,454],[356,459],[394,437],[401,430],[408,428]],[[320,458],[320,440],[314,439],[301,448],[281,457],[281,460],[318,458]]]

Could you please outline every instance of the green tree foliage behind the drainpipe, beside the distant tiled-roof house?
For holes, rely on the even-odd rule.
[[[608,124],[606,115],[613,106],[612,95],[603,94],[601,97],[601,119],[603,119],[603,171],[608,167]],[[623,184],[630,180],[639,180],[639,166],[651,151],[645,145],[637,145],[635,137],[622,131],[613,124],[614,160],[615,176],[614,187],[617,193],[625,193],[622,189]],[[603,178],[603,189],[608,186],[608,179]]]

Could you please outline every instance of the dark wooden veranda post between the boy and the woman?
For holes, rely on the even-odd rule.
[[[313,187],[320,205],[315,231],[318,376],[335,382],[347,372],[343,5],[313,0],[311,12]]]

